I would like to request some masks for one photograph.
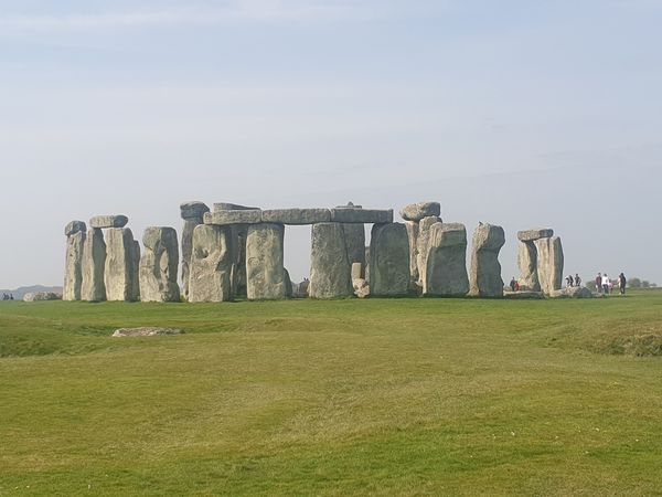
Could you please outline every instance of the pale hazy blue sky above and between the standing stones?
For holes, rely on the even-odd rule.
[[[565,273],[662,284],[662,1],[0,0],[0,288],[64,226],[189,200],[441,203],[553,228]],[[397,215],[396,215],[397,218]],[[308,275],[310,229],[286,231]]]

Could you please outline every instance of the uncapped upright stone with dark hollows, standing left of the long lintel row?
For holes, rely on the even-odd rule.
[[[179,302],[177,231],[166,226],[147,228],[142,234],[142,245],[145,251],[140,258],[140,299]]]

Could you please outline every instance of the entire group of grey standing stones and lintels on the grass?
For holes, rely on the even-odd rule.
[[[150,226],[140,244],[128,218],[96,215],[88,226],[65,226],[63,299],[131,302],[227,302],[297,298],[503,296],[499,253],[503,228],[480,223],[467,272],[467,230],[445,223],[439,202],[417,202],[401,210],[363,209],[349,203],[332,209],[268,209],[228,202],[190,201],[180,205],[184,221],[181,250],[173,228]],[[310,281],[292,284],[284,266],[288,225],[311,225]],[[372,224],[365,246],[365,224]],[[558,292],[563,246],[551,229],[517,233],[522,295],[585,297]],[[181,260],[180,260],[181,256]],[[178,268],[181,262],[181,293]],[[509,292],[509,297],[512,297]]]

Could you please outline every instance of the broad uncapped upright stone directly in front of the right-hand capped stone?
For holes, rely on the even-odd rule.
[[[423,294],[447,297],[467,295],[467,229],[459,223],[430,221],[427,231]]]

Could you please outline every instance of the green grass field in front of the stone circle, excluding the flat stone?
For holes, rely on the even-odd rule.
[[[662,292],[0,303],[0,496],[218,494],[662,495]]]

